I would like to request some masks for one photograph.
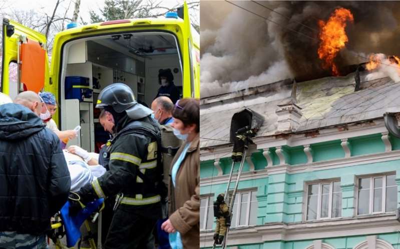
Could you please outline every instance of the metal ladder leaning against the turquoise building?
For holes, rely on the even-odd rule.
[[[246,159],[247,149],[248,149],[248,140],[246,139],[246,143],[244,145],[243,157],[242,157],[242,160],[240,161],[239,170],[238,170],[237,176],[236,176],[235,187],[233,188],[232,198],[229,201],[229,213],[231,215],[230,220],[232,220],[233,203],[235,202],[236,191],[237,191],[237,187],[239,185],[240,175],[241,175],[242,170],[243,170],[244,160]],[[231,181],[232,181],[232,175],[233,175],[234,166],[235,166],[235,162],[233,161],[232,162],[231,171],[229,173],[228,185],[226,186],[226,190],[225,190],[225,198],[228,196],[228,192],[231,189],[231,188],[229,188],[229,186],[230,186]],[[225,236],[224,236],[224,240],[222,241],[222,249],[226,248],[226,242],[228,240],[229,228],[230,228],[230,226],[226,227],[226,233],[225,233]],[[214,241],[212,248],[215,249],[216,246],[219,246],[219,244],[216,244],[215,241]]]

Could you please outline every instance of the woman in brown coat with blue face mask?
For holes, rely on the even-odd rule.
[[[161,228],[170,233],[172,249],[199,248],[200,239],[200,103],[182,99],[175,104],[172,116],[174,134],[184,140],[170,171],[169,218]]]

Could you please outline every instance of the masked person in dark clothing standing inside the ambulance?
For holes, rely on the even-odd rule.
[[[179,99],[179,89],[174,85],[174,76],[172,75],[171,69],[160,69],[158,73],[158,82],[161,87],[158,89],[157,97],[165,96],[171,99],[175,104]]]

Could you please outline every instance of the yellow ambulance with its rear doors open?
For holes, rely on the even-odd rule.
[[[60,32],[50,67],[45,46],[43,34],[3,20],[0,92],[12,98],[24,90],[54,93],[59,128],[82,127],[69,145],[95,151],[97,141],[104,140],[94,106],[110,84],[127,84],[138,102],[150,107],[160,87],[159,72],[168,70],[182,97],[200,97],[200,39],[186,2],[165,18],[106,21]],[[82,96],[71,96],[71,87]]]

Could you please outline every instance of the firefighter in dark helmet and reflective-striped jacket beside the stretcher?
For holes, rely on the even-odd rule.
[[[165,198],[160,191],[159,126],[150,116],[152,110],[137,103],[132,90],[122,83],[104,88],[96,108],[110,112],[115,122],[107,150],[109,170],[81,188],[81,202],[118,194],[103,247],[153,249],[153,228],[161,218],[160,201]]]

